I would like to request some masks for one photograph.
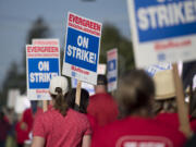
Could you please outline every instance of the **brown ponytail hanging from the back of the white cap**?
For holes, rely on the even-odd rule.
[[[56,91],[58,93],[58,95],[53,96],[53,99],[56,101],[53,107],[54,107],[56,110],[59,110],[59,112],[63,117],[65,117],[66,115],[66,111],[69,109],[69,106],[68,106],[68,103],[66,103],[66,101],[64,99],[64,96],[62,94],[62,88],[57,87]]]

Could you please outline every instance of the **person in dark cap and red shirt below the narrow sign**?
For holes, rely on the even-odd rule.
[[[98,126],[103,126],[118,119],[118,105],[107,93],[107,77],[98,75],[95,95],[90,96],[87,113],[96,119]]]

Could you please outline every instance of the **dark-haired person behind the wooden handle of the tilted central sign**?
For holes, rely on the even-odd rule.
[[[86,117],[88,118],[91,130],[94,131],[97,127],[97,122],[96,122],[94,117],[87,114],[89,93],[84,88],[81,89],[81,103],[79,103],[79,106],[75,103],[75,96],[76,96],[76,88],[72,88],[69,91],[68,99],[66,99],[69,107],[81,112],[81,113],[85,113]]]

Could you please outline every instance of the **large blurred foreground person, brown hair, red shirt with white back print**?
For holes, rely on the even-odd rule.
[[[185,137],[151,119],[152,79],[143,70],[126,73],[120,82],[118,101],[122,120],[97,130],[91,147],[182,147]]]

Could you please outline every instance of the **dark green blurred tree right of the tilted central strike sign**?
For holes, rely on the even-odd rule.
[[[99,62],[107,63],[107,51],[118,48],[119,75],[135,66],[133,45],[131,40],[122,37],[119,29],[110,24],[105,24],[101,36]]]

